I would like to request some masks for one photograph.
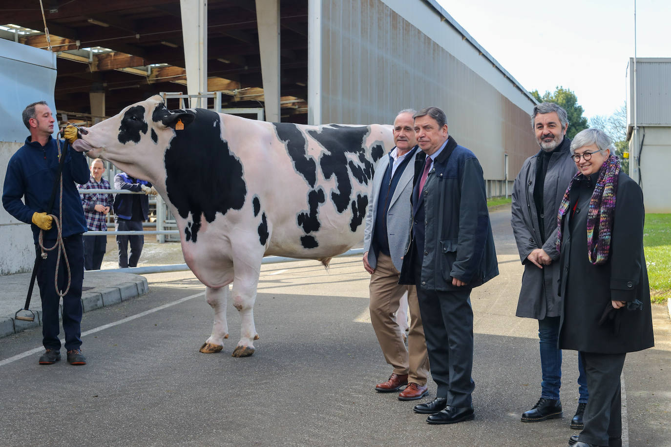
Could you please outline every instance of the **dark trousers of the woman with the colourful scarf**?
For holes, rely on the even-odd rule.
[[[589,401],[580,441],[597,446],[617,445],[622,437],[620,375],[625,354],[582,353]]]

